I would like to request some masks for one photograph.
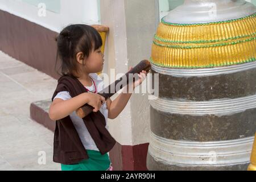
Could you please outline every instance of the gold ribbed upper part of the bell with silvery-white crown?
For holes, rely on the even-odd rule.
[[[185,1],[165,16],[151,63],[212,68],[256,61],[256,7],[243,0]]]

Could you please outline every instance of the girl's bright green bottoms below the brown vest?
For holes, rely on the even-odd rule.
[[[61,164],[62,171],[106,171],[110,167],[108,154],[101,155],[100,151],[86,150],[89,159],[82,160],[78,164]]]

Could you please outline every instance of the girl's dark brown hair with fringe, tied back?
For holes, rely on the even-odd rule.
[[[72,24],[65,27],[57,36],[56,41],[55,71],[61,76],[76,77],[74,72],[77,71],[77,53],[82,52],[86,59],[86,57],[89,57],[90,52],[102,46],[102,39],[98,31],[86,24]],[[59,59],[61,73],[56,70]]]

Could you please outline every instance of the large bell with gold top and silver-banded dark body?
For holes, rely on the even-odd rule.
[[[149,170],[246,170],[256,131],[256,7],[185,1],[152,44]]]

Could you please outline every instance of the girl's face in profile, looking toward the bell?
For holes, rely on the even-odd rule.
[[[104,54],[101,52],[101,47],[92,51],[87,59],[84,60],[82,67],[86,73],[101,72],[104,65]]]

